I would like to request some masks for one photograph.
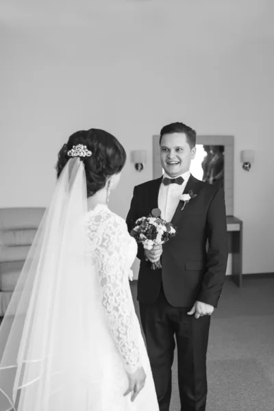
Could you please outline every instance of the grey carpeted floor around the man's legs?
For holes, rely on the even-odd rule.
[[[179,410],[175,353],[170,411]],[[210,326],[206,410],[274,411],[274,278],[225,282]]]

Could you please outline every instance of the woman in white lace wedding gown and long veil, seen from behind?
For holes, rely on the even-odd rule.
[[[0,327],[0,411],[158,411],[129,287],[137,245],[108,208],[126,154],[73,134]]]

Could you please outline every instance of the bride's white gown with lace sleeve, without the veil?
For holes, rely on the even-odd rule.
[[[147,349],[129,287],[136,240],[127,232],[125,221],[104,205],[88,212],[87,229],[88,253],[91,264],[97,264],[101,284],[102,321],[112,334],[112,339],[105,338],[99,354],[105,371],[101,376],[101,411],[158,411]],[[112,343],[105,345],[106,341]],[[129,385],[125,370],[132,373],[141,365],[147,374],[146,384],[132,402],[132,394],[123,396]]]

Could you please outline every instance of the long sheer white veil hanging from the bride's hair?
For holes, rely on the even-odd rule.
[[[0,326],[0,411],[100,409],[106,334],[86,213],[84,164],[71,158]]]

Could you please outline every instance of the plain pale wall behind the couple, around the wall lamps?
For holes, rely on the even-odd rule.
[[[134,185],[152,178],[151,136],[183,121],[235,136],[243,271],[273,272],[271,1],[35,4],[2,5],[0,207],[47,206],[58,150],[77,129],[98,127],[150,159],[140,174],[127,162],[112,194],[125,216]],[[249,173],[242,149],[256,151]]]

